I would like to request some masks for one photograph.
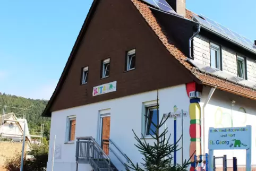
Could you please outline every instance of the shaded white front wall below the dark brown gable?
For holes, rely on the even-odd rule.
[[[100,95],[105,96],[105,95]],[[59,152],[55,153],[55,171],[63,170],[75,170],[75,143],[65,144],[65,129],[66,118],[70,115],[76,115],[76,130],[75,135],[78,136],[93,136],[98,140],[99,136],[99,112],[100,110],[110,110],[110,139],[120,147],[120,149],[126,153],[128,157],[135,163],[142,161],[141,155],[138,149],[134,146],[136,143],[132,130],[137,135],[141,134],[142,123],[142,108],[143,102],[148,102],[157,99],[157,91],[150,91],[146,93],[140,93],[138,95],[98,102],[95,104],[89,104],[85,106],[75,107],[71,109],[61,110],[52,113],[52,123],[50,130],[50,145],[49,145],[49,158],[47,164],[47,170],[50,170],[52,166],[52,148],[53,139],[56,135],[56,146]],[[166,88],[159,90],[159,113],[160,116],[164,113],[173,112],[173,107],[176,105],[178,110],[189,111],[189,98],[187,97],[185,85],[176,86],[172,88]],[[170,142],[173,143],[173,118],[169,118],[166,126],[169,133],[172,133]],[[177,139],[181,136],[181,118],[177,118]],[[189,158],[189,136],[190,117],[184,117],[184,159]],[[147,139],[149,143],[152,143],[152,139]],[[112,145],[110,145],[112,147]],[[181,143],[180,146],[181,147]],[[113,147],[115,152],[120,156],[120,153]],[[119,161],[113,157],[113,153],[110,152],[110,158],[113,163],[121,168]],[[121,158],[123,161],[124,158]],[[177,162],[181,162],[181,151],[177,152]],[[89,165],[79,165],[78,170],[89,171],[91,170]]]

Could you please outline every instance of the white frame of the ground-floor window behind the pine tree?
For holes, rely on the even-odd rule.
[[[159,102],[158,102],[158,110],[159,110],[159,106],[160,106],[160,104],[159,104]],[[152,138],[152,136],[151,136],[151,135],[146,135],[146,131],[147,131],[147,122],[146,122],[146,119],[147,119],[147,117],[144,116],[144,115],[145,115],[145,114],[148,115],[147,109],[155,108],[155,107],[157,107],[157,100],[148,101],[148,102],[143,102],[143,104],[142,104],[142,123],[141,123],[142,127],[141,127],[141,132],[142,132],[144,138],[146,138],[146,139],[147,139],[147,138]],[[160,110],[159,110],[159,111],[160,111]],[[159,112],[159,116],[160,116],[160,112]],[[159,118],[160,118],[160,117],[159,117]],[[143,137],[141,136],[141,138],[143,138]]]

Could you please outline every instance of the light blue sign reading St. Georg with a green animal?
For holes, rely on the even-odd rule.
[[[251,127],[223,127],[209,129],[209,150],[251,148]]]

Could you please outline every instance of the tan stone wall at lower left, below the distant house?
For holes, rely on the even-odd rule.
[[[14,157],[22,151],[22,142],[0,141],[0,171],[4,171],[6,159]],[[25,146],[25,151],[27,146]]]

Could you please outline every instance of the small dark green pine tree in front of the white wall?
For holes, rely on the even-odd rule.
[[[150,129],[153,134],[150,134],[152,139],[155,140],[153,145],[150,145],[146,140],[144,139],[144,135],[142,134],[142,140],[135,134],[133,131],[133,134],[135,135],[135,139],[138,142],[138,144],[135,144],[135,146],[138,148],[140,153],[143,155],[143,163],[141,168],[138,163],[134,164],[131,159],[130,163],[131,165],[126,165],[126,170],[136,170],[136,171],[182,171],[187,170],[187,167],[191,164],[190,159],[185,160],[182,165],[176,165],[173,164],[173,156],[172,153],[174,151],[178,151],[178,141],[181,140],[181,138],[176,142],[176,144],[170,144],[169,139],[171,134],[168,133],[168,127],[164,129],[162,133],[159,133],[159,130],[162,126],[165,125],[168,117],[162,117],[161,121],[159,122],[159,101],[158,101],[158,91],[157,91],[157,123],[151,123],[153,126],[156,127],[156,130]],[[149,119],[147,115],[145,115],[146,119]],[[182,137],[183,135],[181,135]]]

